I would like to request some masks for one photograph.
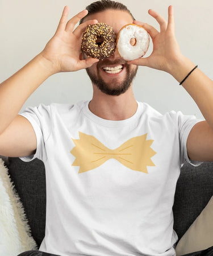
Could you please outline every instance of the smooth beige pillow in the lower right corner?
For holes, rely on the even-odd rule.
[[[201,214],[179,240],[176,253],[183,255],[213,246],[213,196]]]

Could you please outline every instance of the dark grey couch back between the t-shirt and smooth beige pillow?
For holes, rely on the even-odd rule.
[[[213,195],[213,162],[181,168],[174,197],[174,230],[180,239]]]

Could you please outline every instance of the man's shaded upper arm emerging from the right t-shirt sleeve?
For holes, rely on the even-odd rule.
[[[186,146],[191,160],[213,161],[213,130],[206,121],[194,125]]]

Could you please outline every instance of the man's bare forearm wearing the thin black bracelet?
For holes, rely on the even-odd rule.
[[[173,71],[170,73],[178,82],[181,82],[194,67],[193,62],[182,57],[171,68]],[[213,129],[213,81],[197,68],[187,77],[182,86],[196,102],[203,117]]]

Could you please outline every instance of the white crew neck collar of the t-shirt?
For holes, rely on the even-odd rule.
[[[89,119],[91,119],[93,122],[98,123],[99,125],[102,125],[102,126],[107,126],[107,127],[127,126],[127,125],[130,125],[130,123],[132,123],[133,121],[135,121],[141,113],[141,104],[138,101],[136,101],[137,102],[137,110],[136,110],[135,114],[133,114],[130,118],[127,118],[124,120],[119,120],[119,121],[103,119],[103,118],[98,117],[97,115],[93,114],[90,111],[89,102],[90,101],[85,102],[85,108],[83,109],[85,115]]]

